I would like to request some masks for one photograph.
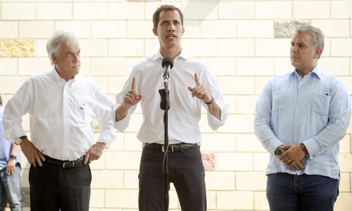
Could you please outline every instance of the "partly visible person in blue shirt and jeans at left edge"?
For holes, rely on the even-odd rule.
[[[0,96],[0,211],[3,211],[4,190],[11,211],[22,210],[20,146],[3,137],[3,100]]]

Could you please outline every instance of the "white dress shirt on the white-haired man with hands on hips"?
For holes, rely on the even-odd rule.
[[[24,136],[22,116],[29,113],[33,145],[49,157],[73,161],[94,144],[94,119],[101,130],[97,142],[108,148],[116,139],[112,106],[91,79],[78,74],[66,82],[53,68],[28,78],[8,101],[3,135],[11,143]]]

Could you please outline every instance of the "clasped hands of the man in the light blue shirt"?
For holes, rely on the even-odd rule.
[[[300,162],[304,156],[306,156],[301,146],[298,144],[285,145],[283,146],[283,149],[287,149],[287,151],[280,156],[279,160],[287,166],[289,166],[292,162]]]

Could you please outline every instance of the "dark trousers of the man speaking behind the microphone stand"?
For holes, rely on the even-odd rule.
[[[138,175],[140,211],[163,210],[162,160],[163,152],[143,148]],[[181,209],[207,210],[205,173],[199,147],[169,152],[168,171],[169,181],[173,183],[179,196]]]

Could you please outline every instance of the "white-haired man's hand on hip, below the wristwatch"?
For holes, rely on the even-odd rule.
[[[34,147],[31,141],[29,141],[27,138],[23,139],[20,146],[23,154],[26,156],[30,164],[33,164],[34,167],[37,166],[37,163],[39,166],[43,165],[42,160],[45,161],[45,157],[43,153]]]

